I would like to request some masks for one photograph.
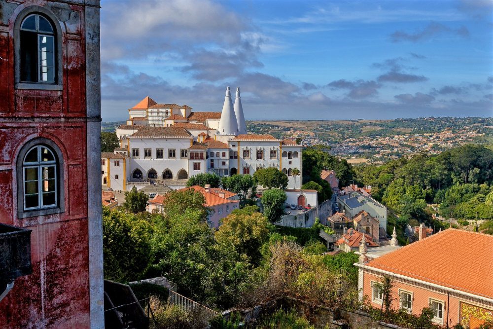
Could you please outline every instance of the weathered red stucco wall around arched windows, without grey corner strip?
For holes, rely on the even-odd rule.
[[[33,267],[0,301],[0,328],[89,327],[86,123],[80,120],[86,116],[85,8],[62,2],[26,1],[10,17],[8,8],[0,15],[0,222],[32,229]],[[70,16],[55,22],[63,31],[61,91],[15,89],[13,26],[18,13],[33,4],[58,6],[57,17]],[[65,212],[19,219],[16,157],[35,137],[62,150]]]

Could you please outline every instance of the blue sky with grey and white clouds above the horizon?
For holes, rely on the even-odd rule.
[[[145,96],[247,120],[493,116],[493,1],[102,0],[102,115]]]

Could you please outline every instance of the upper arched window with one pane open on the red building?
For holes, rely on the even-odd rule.
[[[40,13],[24,18],[19,51],[21,82],[57,82],[57,35],[49,18]]]

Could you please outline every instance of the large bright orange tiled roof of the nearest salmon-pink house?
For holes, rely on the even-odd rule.
[[[449,228],[366,265],[493,298],[492,250],[493,235]]]

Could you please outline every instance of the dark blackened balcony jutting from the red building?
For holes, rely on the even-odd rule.
[[[0,224],[0,300],[31,272],[31,230]]]

